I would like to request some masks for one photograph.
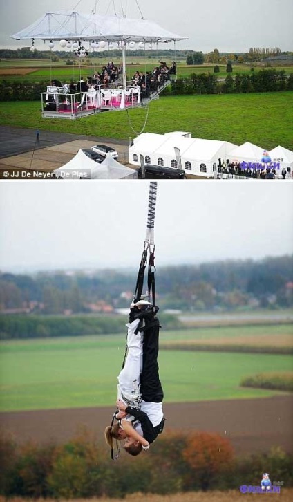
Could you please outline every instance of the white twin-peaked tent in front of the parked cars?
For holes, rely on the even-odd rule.
[[[79,149],[75,157],[67,164],[54,170],[57,178],[64,179],[102,179],[102,180],[117,180],[117,179],[133,179],[138,177],[135,169],[130,169],[111,157],[106,157],[105,160],[98,164],[92,160],[82,149]]]

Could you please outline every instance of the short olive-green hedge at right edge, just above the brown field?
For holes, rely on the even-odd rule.
[[[276,391],[293,392],[293,371],[258,373],[243,378],[240,385],[242,385],[242,387],[255,387],[256,389],[274,389]]]

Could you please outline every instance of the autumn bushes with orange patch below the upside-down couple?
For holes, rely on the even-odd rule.
[[[231,490],[259,485],[263,472],[271,481],[292,485],[292,456],[281,449],[236,458],[227,438],[218,434],[164,434],[148,452],[131,457],[122,450],[111,461],[108,447],[88,431],[64,445],[17,447],[0,439],[0,494],[6,497],[81,499],[123,497],[135,492],[169,494],[196,490]]]

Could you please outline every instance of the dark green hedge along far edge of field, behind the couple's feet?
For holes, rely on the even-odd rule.
[[[0,315],[0,340],[122,333],[127,320],[123,315]],[[164,329],[181,326],[173,315],[160,315],[160,322]]]

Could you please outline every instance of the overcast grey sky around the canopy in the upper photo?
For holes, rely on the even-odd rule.
[[[157,22],[171,32],[188,37],[178,42],[180,49],[214,48],[220,52],[248,52],[249,47],[275,47],[293,50],[292,0],[138,0],[144,19]],[[97,13],[140,18],[135,0],[97,1]],[[77,10],[89,13],[95,0],[1,0],[0,46],[21,48],[26,41],[13,41],[10,35],[26,28],[45,12]],[[42,42],[36,47],[44,49]],[[173,48],[171,44],[167,47]]]

